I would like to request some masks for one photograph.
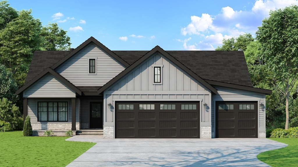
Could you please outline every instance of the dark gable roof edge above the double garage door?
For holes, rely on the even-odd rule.
[[[209,85],[209,83],[207,83],[206,81],[204,81],[201,77],[199,77],[197,74],[195,74],[192,70],[188,69],[185,65],[183,65],[181,62],[179,62],[178,60],[176,60],[173,56],[171,56],[169,53],[167,53],[166,51],[164,51],[159,46],[154,47],[151,51],[149,51],[144,56],[142,56],[140,59],[138,59],[136,62],[134,62],[133,64],[131,64],[131,66],[129,66],[128,68],[126,68],[125,70],[123,70],[119,75],[117,75],[111,81],[109,81],[104,86],[102,86],[100,89],[98,89],[98,91],[97,91],[98,94],[102,93],[105,89],[107,89],[109,86],[111,86],[112,84],[114,84],[116,81],[118,81],[120,78],[122,78],[124,75],[126,75],[127,73],[129,73],[136,66],[138,66],[139,64],[141,64],[142,62],[144,62],[148,57],[150,57],[151,55],[153,55],[156,52],[159,52],[162,55],[164,55],[167,59],[169,59],[170,61],[172,61],[174,64],[176,64],[178,67],[180,67],[186,73],[188,73],[190,76],[192,76],[197,81],[199,81],[201,84],[203,84],[204,86],[206,86],[212,93],[217,94],[217,90],[214,87],[212,87],[211,85]]]

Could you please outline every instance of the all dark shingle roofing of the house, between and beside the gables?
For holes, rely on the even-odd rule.
[[[47,67],[52,67],[70,52],[71,51],[35,51],[25,84]],[[113,52],[131,65],[149,51]],[[252,87],[243,51],[166,52],[203,79]],[[89,91],[93,92],[95,90],[82,90],[82,92]]]

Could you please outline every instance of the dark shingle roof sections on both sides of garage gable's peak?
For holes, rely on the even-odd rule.
[[[148,51],[113,51],[133,64]],[[203,79],[251,86],[243,51],[166,51]]]

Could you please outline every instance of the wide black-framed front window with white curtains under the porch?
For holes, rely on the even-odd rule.
[[[38,121],[67,121],[67,102],[38,102]]]

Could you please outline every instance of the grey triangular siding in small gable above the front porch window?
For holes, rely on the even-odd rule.
[[[23,97],[76,97],[74,91],[58,81],[52,74],[46,74],[24,90]]]

